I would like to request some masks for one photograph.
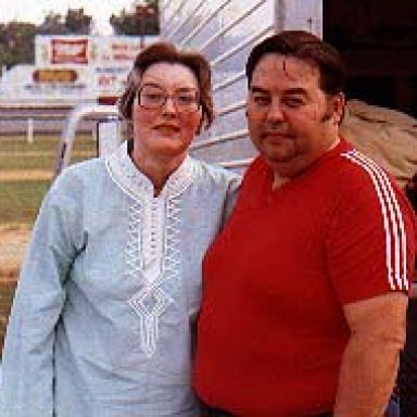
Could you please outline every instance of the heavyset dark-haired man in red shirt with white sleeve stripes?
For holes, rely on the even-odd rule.
[[[249,167],[204,260],[195,387],[211,416],[382,416],[404,344],[406,199],[339,135],[339,53],[304,31],[247,63]]]

